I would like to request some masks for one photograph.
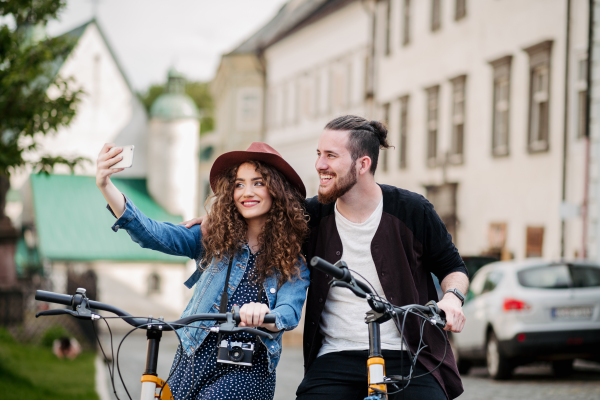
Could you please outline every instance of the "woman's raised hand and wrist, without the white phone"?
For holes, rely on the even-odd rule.
[[[124,169],[112,168],[113,165],[123,159],[121,155],[122,151],[121,147],[117,147],[113,143],[105,143],[96,160],[96,186],[98,186],[98,189],[100,189],[108,205],[117,217],[120,217],[125,212],[125,198],[110,181],[110,176]]]

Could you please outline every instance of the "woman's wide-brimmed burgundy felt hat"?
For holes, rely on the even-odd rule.
[[[281,172],[288,182],[298,189],[302,197],[306,197],[304,183],[302,183],[302,179],[294,171],[294,168],[281,157],[277,150],[262,142],[252,143],[246,151],[230,151],[217,157],[210,169],[210,187],[213,192],[215,191],[217,179],[222,173],[230,167],[243,164],[246,161],[260,161],[269,164]]]

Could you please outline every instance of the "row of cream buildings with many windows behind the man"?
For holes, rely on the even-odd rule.
[[[587,3],[289,1],[249,51],[263,137],[314,195],[323,126],[385,120],[377,180],[427,196],[462,254],[598,258]]]

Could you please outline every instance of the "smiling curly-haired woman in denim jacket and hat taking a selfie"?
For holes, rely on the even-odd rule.
[[[240,326],[274,333],[274,340],[245,333],[224,338],[225,345],[254,344],[252,366],[241,366],[217,362],[222,343],[208,329],[214,322],[178,330],[182,346],[169,379],[174,397],[273,398],[281,336],[298,325],[309,283],[300,252],[308,233],[302,180],[264,143],[221,155],[210,171],[214,195],[207,201],[212,205],[203,236],[199,226],[187,229],[147,218],[114,186],[110,176],[122,169],[111,166],[121,160],[120,152],[106,144],[97,161],[96,184],[119,216],[113,230],[125,229],[142,247],[196,260],[197,269],[185,282],[188,288],[196,286],[182,317],[239,305]],[[222,300],[226,281],[227,297]],[[268,313],[275,314],[275,323],[263,323]]]

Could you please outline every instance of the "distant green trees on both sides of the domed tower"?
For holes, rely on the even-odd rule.
[[[166,90],[165,85],[152,85],[146,93],[138,93],[138,96],[146,111],[150,112],[150,107],[154,100],[163,94]],[[200,110],[200,134],[210,132],[214,129],[213,99],[208,88],[208,82],[187,82],[185,85],[185,93],[194,100],[196,107]]]

